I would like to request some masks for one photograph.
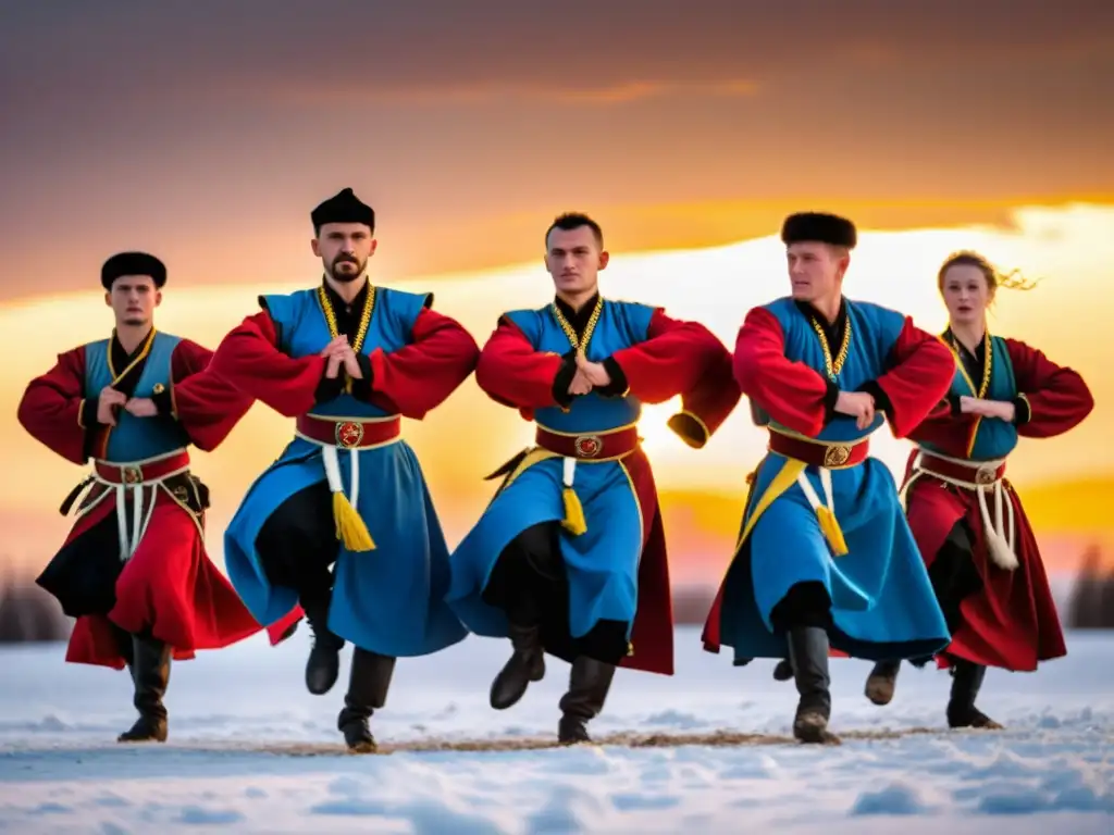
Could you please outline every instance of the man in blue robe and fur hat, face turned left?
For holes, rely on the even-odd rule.
[[[768,425],[743,528],[704,628],[736,664],[782,658],[800,700],[794,736],[838,741],[828,656],[907,658],[947,645],[944,616],[889,470],[868,456],[885,421],[906,436],[951,381],[948,350],[912,320],[843,296],[854,225],[786,218],[791,297],[746,314],[735,376]],[[885,416],[883,416],[885,415]]]

